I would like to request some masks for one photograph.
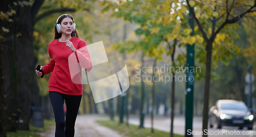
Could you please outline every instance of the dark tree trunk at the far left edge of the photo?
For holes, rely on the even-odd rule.
[[[6,136],[6,131],[16,130],[17,114],[17,81],[13,35],[3,35],[0,48],[0,132]]]

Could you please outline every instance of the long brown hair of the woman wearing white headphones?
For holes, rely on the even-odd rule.
[[[71,18],[71,19],[73,20],[73,23],[74,23],[74,19],[73,19],[73,17],[72,17],[71,15],[69,15],[69,14],[63,14],[62,16],[59,17],[58,22],[57,22],[56,24],[60,24],[61,21],[62,21],[64,18]],[[56,24],[55,24],[55,27],[54,27],[54,39],[59,39],[59,38],[61,38],[61,34],[62,34],[62,33],[58,33],[58,32],[57,32]],[[79,34],[78,34],[78,32],[76,31],[76,29],[75,29],[74,32],[71,33],[71,37],[76,37],[76,38],[79,37]]]

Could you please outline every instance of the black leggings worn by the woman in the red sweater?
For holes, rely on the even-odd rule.
[[[82,95],[66,95],[50,91],[49,97],[52,103],[56,123],[55,137],[73,137],[75,134],[75,122]],[[63,109],[64,100],[67,105],[66,122]]]

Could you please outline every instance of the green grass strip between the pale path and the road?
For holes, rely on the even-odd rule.
[[[126,123],[119,124],[118,121],[111,121],[111,120],[99,120],[96,121],[97,123],[112,128],[114,130],[117,130],[121,134],[124,134],[127,137],[168,137],[169,132],[160,131],[157,129],[154,129],[154,133],[151,133],[151,128],[142,128],[138,129],[138,126],[136,125],[129,125],[126,126]],[[181,137],[184,135],[174,134],[174,137]]]

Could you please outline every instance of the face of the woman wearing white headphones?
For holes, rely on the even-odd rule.
[[[71,33],[73,32],[73,20],[69,17],[64,18],[61,21],[61,30],[62,30],[62,34],[64,35],[71,35]]]

